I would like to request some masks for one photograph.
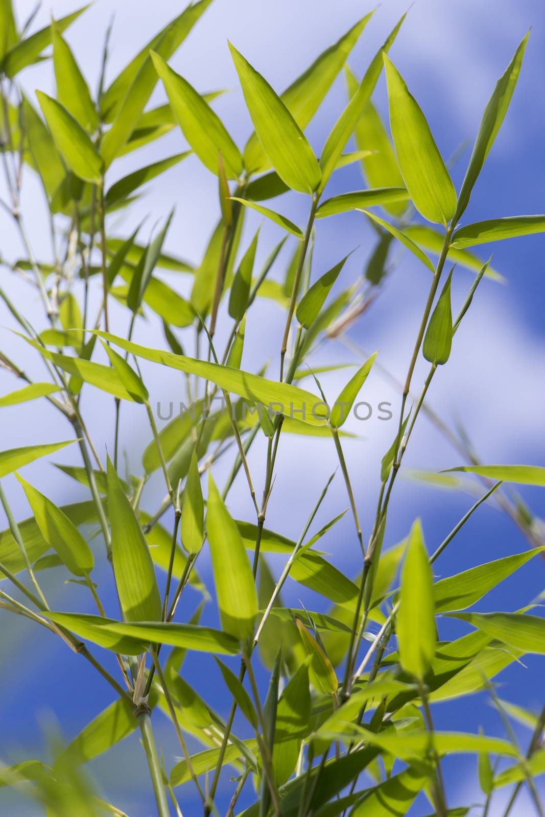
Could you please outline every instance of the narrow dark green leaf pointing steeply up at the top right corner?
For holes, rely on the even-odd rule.
[[[485,108],[485,113],[480,122],[479,132],[471,158],[467,166],[466,176],[463,180],[462,190],[458,195],[458,208],[456,210],[456,219],[458,221],[462,213],[467,208],[471,196],[471,190],[477,181],[480,171],[485,164],[486,158],[490,152],[494,140],[498,136],[498,131],[502,127],[503,119],[507,114],[507,109],[511,102],[511,97],[516,88],[520,74],[520,66],[525,54],[526,43],[528,42],[529,32],[525,38],[520,42],[520,46],[516,49],[503,76],[498,79],[494,92],[490,97]]]

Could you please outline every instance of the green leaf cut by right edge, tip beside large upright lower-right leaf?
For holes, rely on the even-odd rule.
[[[491,638],[525,653],[545,655],[545,618],[524,613],[449,613],[478,627]]]

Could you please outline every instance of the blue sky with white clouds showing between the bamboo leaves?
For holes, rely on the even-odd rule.
[[[34,0],[19,0],[17,11],[20,19],[34,7]],[[97,56],[101,51],[101,38],[112,12],[115,13],[113,52],[109,76],[121,69],[137,48],[151,36],[152,30],[173,15],[172,2],[154,0],[153,14],[144,3],[131,0],[99,0],[78,21],[69,33],[69,42],[78,53],[80,63],[89,81],[96,84]],[[52,0],[39,11],[43,24],[52,9],[55,16],[62,16],[74,9],[72,0]],[[404,2],[386,0],[369,23],[351,56],[351,67],[358,76],[364,73],[369,60],[377,51],[386,33],[405,10]],[[177,9],[176,9],[177,11]],[[229,38],[244,56],[252,62],[281,91],[302,72],[320,51],[363,16],[368,7],[355,0],[343,0],[335,6],[324,0],[217,0],[172,60],[172,66],[184,74],[199,91],[230,88],[232,92],[215,103],[215,109],[226,123],[239,145],[243,145],[250,130],[242,94],[239,92],[235,70],[230,61],[226,39]],[[543,168],[545,142],[543,106],[543,72],[545,70],[545,8],[543,3],[530,0],[457,0],[454,3],[437,0],[418,0],[412,7],[395,47],[392,60],[400,69],[409,89],[427,115],[431,129],[444,156],[449,156],[466,140],[472,141],[480,121],[480,114],[494,87],[503,73],[518,42],[529,26],[533,26],[520,82],[511,104],[503,129],[489,156],[484,171],[476,185],[464,220],[478,221],[487,217],[502,217],[523,213],[543,212]],[[22,76],[25,88],[33,93],[36,87],[52,90],[51,66],[44,64],[29,69]],[[161,100],[158,91],[156,100]],[[375,101],[382,114],[386,114],[386,92],[383,80],[377,87]],[[317,153],[324,144],[330,127],[345,105],[346,96],[342,79],[335,83],[332,92],[308,129],[310,141]],[[155,158],[183,150],[184,140],[179,131],[127,157],[119,163],[119,176],[154,161]],[[453,181],[462,181],[469,152],[462,154],[453,169]],[[112,177],[114,179],[114,176]],[[216,218],[217,182],[196,158],[187,159],[162,181],[150,185],[145,196],[136,203],[129,216],[114,221],[118,234],[128,234],[147,213],[152,213],[145,225],[151,230],[157,219],[166,217],[172,204],[176,203],[176,216],[168,235],[167,247],[191,261],[198,261]],[[332,193],[356,190],[362,185],[360,171],[352,166],[338,172],[332,182]],[[276,203],[275,203],[276,206]],[[34,248],[39,258],[47,259],[49,248],[48,228],[45,220],[38,185],[29,173],[25,181],[23,207],[29,230],[33,235]],[[302,223],[306,217],[308,202],[303,196],[292,194],[278,199],[278,209],[294,221]],[[2,230],[2,257],[16,259],[21,248],[16,235],[8,229],[9,222],[0,215]],[[259,223],[249,218],[244,242],[248,243],[252,227]],[[373,234],[364,225],[360,214],[334,217],[319,222],[317,229],[313,276],[318,276],[337,262],[352,248],[358,247],[343,270],[342,282],[355,280],[364,267]],[[279,239],[276,228],[263,225],[260,236],[258,263]],[[543,322],[543,236],[517,239],[507,243],[481,248],[483,258],[494,252],[494,266],[507,279],[506,283],[485,281],[481,284],[471,311],[456,336],[453,355],[444,371],[434,381],[430,403],[445,422],[460,421],[467,429],[484,462],[528,462],[543,464],[545,437],[543,435],[543,382],[545,382],[545,324]],[[284,251],[284,260],[288,254]],[[279,266],[276,275],[280,275]],[[4,276],[7,272],[4,271]],[[4,277],[4,285],[11,296],[25,307],[30,319],[41,325],[42,315],[34,294],[29,297],[28,286],[15,276]],[[189,280],[183,276],[168,277],[168,283],[188,292]],[[471,274],[457,270],[453,280],[453,301],[459,305],[471,284]],[[391,275],[387,286],[372,310],[351,330],[351,340],[369,351],[380,349],[382,364],[403,377],[409,363],[413,337],[418,328],[422,305],[427,291],[427,273],[404,255],[400,266]],[[114,320],[119,333],[125,329],[126,318],[114,310]],[[6,310],[0,307],[0,324],[11,325]],[[247,349],[243,365],[256,370],[265,359],[277,357],[279,337],[284,316],[275,305],[262,303],[258,315],[248,320]],[[12,339],[6,329],[0,330],[2,348],[11,349],[10,354],[18,363],[37,370],[34,358],[27,349]],[[141,342],[159,346],[162,343],[159,324],[150,319],[141,326]],[[353,362],[355,356],[338,342],[324,351],[328,362]],[[417,368],[415,382],[422,380],[426,367],[423,362]],[[144,368],[146,384],[154,399],[167,404],[177,400],[176,378],[158,371],[157,367]],[[324,377],[326,393],[337,395],[346,373],[333,373]],[[0,393],[15,388],[7,375],[0,376]],[[389,400],[399,405],[399,398],[377,374],[369,378],[366,395],[371,404]],[[109,400],[100,395],[89,395],[86,409],[93,438],[99,450],[111,445],[110,424],[112,409]],[[9,444],[42,442],[44,439],[65,439],[67,429],[55,413],[43,408],[42,422],[35,421],[35,407],[4,409],[4,428],[9,428]],[[136,471],[141,450],[147,442],[147,426],[141,411],[136,407],[123,407],[127,425],[123,444]],[[355,424],[361,426],[362,424]],[[352,430],[363,434],[363,440],[346,444],[346,458],[351,467],[356,486],[358,507],[364,529],[369,534],[373,507],[376,502],[380,458],[394,435],[394,426],[378,422],[376,417],[363,424],[364,428]],[[2,441],[6,439],[2,435]],[[75,462],[75,454],[74,462]],[[262,474],[262,446],[252,449],[250,467],[252,473]],[[68,462],[69,455],[61,461]],[[316,463],[319,467],[316,467]],[[333,445],[327,440],[311,441],[290,438],[281,444],[278,460],[279,478],[270,502],[267,525],[271,529],[297,538],[299,530],[322,489],[328,475],[336,464]],[[418,424],[418,431],[411,440],[406,464],[410,468],[453,467],[462,464],[458,453],[449,447],[425,417]],[[136,471],[137,472],[137,471]],[[223,466],[217,467],[217,480],[225,477]],[[69,480],[61,479],[50,464],[38,463],[29,467],[25,476],[34,484],[50,486],[48,495],[58,504],[83,498]],[[15,480],[4,480],[6,490],[19,518],[28,516],[24,498]],[[259,484],[259,483],[258,483]],[[297,502],[293,502],[297,489]],[[543,491],[538,489],[522,492],[538,516],[545,516]],[[145,507],[153,510],[163,495],[160,480],[150,484]],[[438,492],[409,480],[399,480],[395,487],[391,518],[386,532],[386,544],[391,545],[403,538],[415,516],[422,516],[422,523],[430,550],[436,547],[453,528],[460,516],[471,505],[472,499],[458,493]],[[320,523],[330,519],[346,507],[346,494],[342,480],[333,481],[316,520]],[[230,510],[234,516],[252,519],[248,492],[242,477],[237,489],[230,495]],[[496,508],[484,507],[463,529],[453,546],[436,563],[436,574],[447,576],[479,562],[485,562],[524,550],[525,539],[514,525]],[[331,552],[332,559],[343,570],[355,573],[359,569],[356,541],[350,515],[347,514],[324,539],[324,550]],[[96,548],[98,552],[98,548]],[[543,561],[534,562],[521,569],[515,577],[503,583],[480,602],[478,609],[517,609],[529,603],[543,590]],[[212,583],[209,564],[203,559],[200,565],[203,578]],[[103,571],[107,581],[106,569]],[[74,587],[63,585],[62,578],[48,578],[50,592],[63,609],[71,609],[78,603]],[[312,602],[311,594],[302,594],[302,588],[293,584],[287,599],[297,605],[302,599]],[[187,602],[183,613],[190,614],[190,606],[196,596]],[[114,609],[112,608],[114,614]],[[213,623],[210,612],[208,620]],[[42,752],[42,722],[47,713],[53,712],[67,739],[78,733],[87,721],[109,703],[111,696],[107,685],[96,684],[95,677],[82,667],[82,660],[52,639],[41,638],[23,621],[13,621],[2,613],[4,640],[2,658],[9,672],[2,673],[2,760],[9,757],[35,757]],[[461,633],[462,627],[444,623],[441,635],[452,637]],[[25,650],[20,650],[20,645]],[[218,696],[218,679],[211,672],[211,659],[188,659],[188,680],[197,685],[212,705],[221,709]],[[541,671],[541,675],[540,675]],[[513,665],[500,676],[501,695],[528,708],[539,709],[543,705],[543,662],[530,657],[525,666]],[[226,712],[221,711],[222,715]],[[489,734],[502,734],[501,724],[479,694],[462,703],[445,703],[434,711],[439,728],[476,730],[482,725]],[[168,730],[166,721],[157,717],[159,741],[165,754],[172,757],[179,749]],[[523,745],[529,735],[520,731]],[[446,776],[449,780],[451,803],[469,805],[478,801],[480,793],[475,788],[475,761],[472,757],[449,759]],[[128,739],[111,755],[99,758],[92,764],[93,773],[112,801],[127,810],[130,815],[153,813],[153,804],[145,801],[147,779],[145,761],[136,736]],[[229,775],[221,784],[220,804],[225,810],[232,785]],[[187,788],[187,787],[186,787]],[[247,795],[251,795],[248,787]],[[2,797],[0,794],[0,804]],[[192,814],[194,801],[190,791],[184,792],[185,814]],[[184,805],[182,797],[182,806]],[[243,800],[240,801],[243,805]],[[501,794],[491,811],[491,817],[500,815]],[[34,815],[27,806],[18,806],[18,815]],[[220,808],[220,810],[221,810]],[[531,813],[528,801],[520,797],[520,817]],[[423,815],[430,808],[425,802],[415,804],[414,815]]]

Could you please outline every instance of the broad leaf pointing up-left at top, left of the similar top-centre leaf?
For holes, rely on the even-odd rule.
[[[172,111],[194,154],[217,176],[217,154],[221,153],[228,178],[238,179],[243,170],[242,156],[221,119],[194,87],[158,54],[152,51],[151,57],[163,80]]]

